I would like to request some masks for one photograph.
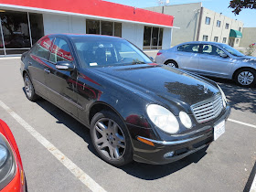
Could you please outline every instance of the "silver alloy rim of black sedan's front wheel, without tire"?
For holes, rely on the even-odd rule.
[[[101,155],[110,160],[118,160],[124,155],[124,133],[119,125],[109,118],[102,118],[95,123],[93,141]]]

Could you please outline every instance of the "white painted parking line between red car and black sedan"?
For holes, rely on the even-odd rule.
[[[97,184],[91,176],[88,176],[86,173],[84,173],[78,165],[75,165],[67,156],[62,154],[59,149],[57,149],[53,144],[51,144],[45,137],[43,137],[40,133],[37,133],[37,131],[30,126],[25,120],[23,120],[16,112],[12,111],[3,101],[0,101],[0,106],[8,112],[17,123],[20,123],[28,133],[32,134],[37,141],[42,144],[44,147],[48,149],[48,151],[54,155],[59,162],[66,166],[66,168],[69,169],[69,171],[76,176],[78,179],[80,179],[80,182],[82,182],[86,187],[89,187],[91,191],[97,191],[97,192],[105,192],[105,190]]]

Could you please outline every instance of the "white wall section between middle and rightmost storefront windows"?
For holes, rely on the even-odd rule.
[[[143,49],[144,26],[131,23],[122,23],[122,37],[131,41],[138,48]]]

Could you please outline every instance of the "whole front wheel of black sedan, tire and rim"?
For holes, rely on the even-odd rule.
[[[129,133],[114,112],[101,111],[91,120],[91,141],[101,158],[115,166],[126,165],[133,160]]]

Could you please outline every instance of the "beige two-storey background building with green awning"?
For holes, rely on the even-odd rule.
[[[147,7],[147,10],[175,16],[172,46],[187,41],[215,41],[240,46],[243,23],[202,6],[202,3]]]

